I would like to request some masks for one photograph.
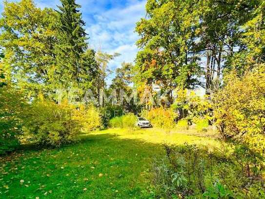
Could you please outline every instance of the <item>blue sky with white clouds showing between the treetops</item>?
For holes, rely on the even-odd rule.
[[[135,23],[145,17],[146,0],[76,0],[82,6],[82,18],[86,22],[89,34],[89,45],[95,50],[121,54],[110,63],[115,70],[123,61],[133,62],[138,39]],[[52,7],[60,4],[60,0],[35,0],[37,7]],[[0,11],[3,3],[0,4]],[[111,78],[111,75],[108,83]]]

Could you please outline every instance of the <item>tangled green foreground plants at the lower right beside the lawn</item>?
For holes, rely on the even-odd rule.
[[[223,152],[224,150],[220,149],[187,144],[164,145],[164,149],[165,155],[153,162],[151,170],[154,198],[265,197],[262,176],[255,173],[249,176],[247,170],[242,168],[242,165],[247,163],[245,157],[251,154],[248,150],[245,151],[246,155],[239,153],[239,149]]]

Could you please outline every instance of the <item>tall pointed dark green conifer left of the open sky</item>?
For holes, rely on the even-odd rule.
[[[59,42],[56,48],[58,66],[55,75],[64,88],[86,84],[95,72],[94,52],[86,52],[88,37],[80,7],[75,0],[61,0],[57,11]]]

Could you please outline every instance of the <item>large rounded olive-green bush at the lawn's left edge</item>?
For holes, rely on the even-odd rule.
[[[66,102],[56,104],[42,96],[24,112],[23,132],[40,145],[60,146],[77,140],[82,125],[72,117],[76,109]]]

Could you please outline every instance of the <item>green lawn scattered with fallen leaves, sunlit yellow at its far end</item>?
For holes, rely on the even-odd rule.
[[[110,129],[61,149],[24,149],[0,157],[0,198],[151,198],[149,168],[163,142],[220,144],[192,132]]]

